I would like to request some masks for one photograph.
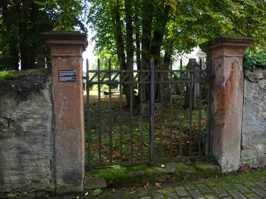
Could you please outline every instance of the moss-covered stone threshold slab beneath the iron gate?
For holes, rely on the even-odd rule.
[[[85,178],[92,179],[97,175],[97,177],[106,180],[107,187],[123,187],[143,185],[147,182],[154,184],[155,182],[207,177],[217,175],[221,172],[218,166],[209,165],[205,162],[196,162],[195,165],[188,165],[186,162],[164,163],[164,167],[162,167],[162,164],[156,164],[155,167],[149,167],[147,165],[134,167],[110,166],[87,172]],[[86,183],[88,182],[86,181]],[[97,183],[94,184],[96,185]],[[100,188],[100,186],[94,188]],[[86,188],[85,186],[85,189],[92,188]]]

